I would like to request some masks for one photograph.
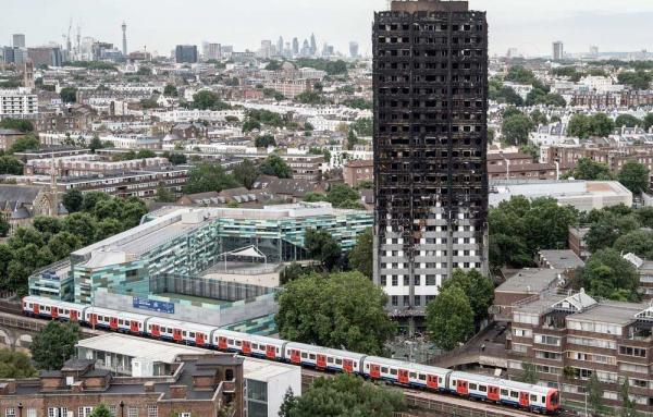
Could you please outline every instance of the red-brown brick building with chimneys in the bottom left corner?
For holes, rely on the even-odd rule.
[[[119,417],[242,417],[243,359],[184,356],[172,375],[114,378],[93,360],[71,359],[38,378],[0,382],[0,413],[23,417],[88,417],[99,404]]]

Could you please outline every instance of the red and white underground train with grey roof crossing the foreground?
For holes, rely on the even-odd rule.
[[[399,387],[451,393],[535,413],[558,414],[560,410],[559,393],[554,388],[46,297],[26,296],[22,308],[30,317],[75,321],[91,328],[234,352],[318,370],[356,373]]]

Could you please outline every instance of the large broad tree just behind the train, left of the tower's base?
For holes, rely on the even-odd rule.
[[[360,272],[301,277],[276,301],[275,322],[286,340],[379,355],[395,332],[385,293]]]

